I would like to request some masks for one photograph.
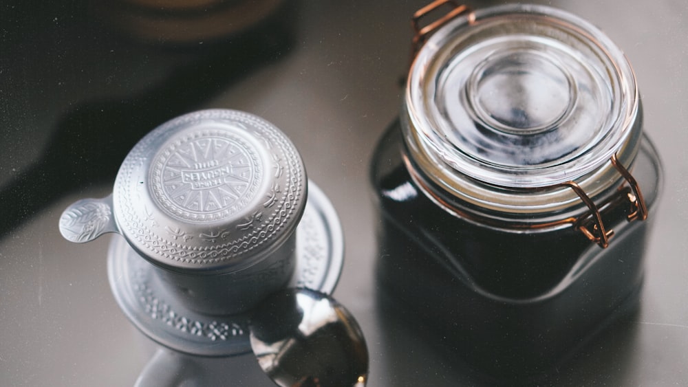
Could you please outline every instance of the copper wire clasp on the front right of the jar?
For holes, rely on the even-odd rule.
[[[636,219],[644,221],[647,219],[647,206],[645,205],[645,199],[643,199],[643,193],[641,192],[640,186],[638,186],[638,182],[633,175],[631,175],[631,173],[623,165],[621,165],[619,159],[616,158],[616,153],[612,155],[610,162],[612,162],[612,166],[619,171],[621,176],[630,186],[631,192],[627,192],[626,190],[619,191],[622,193],[622,195],[625,194],[632,206],[631,213],[627,216],[627,221],[634,221]],[[576,221],[576,223],[578,223],[578,229],[581,230],[581,232],[583,232],[583,234],[587,236],[590,241],[597,243],[603,249],[607,248],[609,246],[609,239],[614,236],[614,230],[607,231],[605,229],[602,221],[602,215],[596,204],[592,201],[592,199],[590,199],[588,194],[585,193],[583,188],[581,188],[581,186],[574,181],[566,181],[565,183],[560,184],[560,186],[567,186],[571,188],[574,192],[576,192],[576,195],[581,198],[583,203],[585,203],[585,206],[588,206],[590,209],[590,215],[592,215],[593,221],[592,228],[590,228],[588,223],[585,222],[585,220],[588,219],[588,214],[585,214]]]

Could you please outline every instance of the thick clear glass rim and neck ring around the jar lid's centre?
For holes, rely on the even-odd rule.
[[[499,159],[488,157],[481,159],[480,154],[476,155],[480,150],[473,153],[470,149],[466,151],[466,147],[462,147],[464,144],[451,138],[456,133],[462,135],[466,131],[466,126],[452,126],[454,122],[447,119],[451,118],[452,109],[466,110],[466,99],[458,100],[458,104],[442,105],[446,101],[440,100],[438,103],[434,93],[442,86],[441,82],[451,78],[451,75],[447,75],[448,71],[452,71],[452,66],[457,63],[452,60],[462,60],[466,55],[475,54],[475,47],[480,48],[479,45],[489,39],[504,39],[504,36],[512,40],[523,38],[526,36],[524,29],[530,29],[528,36],[533,36],[535,32],[546,32],[535,37],[557,45],[573,44],[570,44],[573,36],[575,43],[568,49],[579,60],[586,58],[585,53],[594,53],[598,64],[606,66],[597,72],[598,75],[608,74],[610,85],[607,87],[613,97],[608,104],[611,105],[608,110],[601,110],[600,114],[605,113],[605,117],[596,128],[597,137],[583,144],[585,148],[569,153],[570,156],[564,155],[554,162],[532,165],[500,163]],[[561,36],[568,40],[562,40]],[[539,60],[541,53],[533,52],[527,45],[525,47],[528,60]],[[581,49],[587,51],[580,52]],[[518,54],[518,49],[515,52]],[[504,51],[494,50],[491,55],[505,54]],[[475,63],[479,66],[476,67],[484,67],[485,58],[482,56],[481,60],[477,60]],[[569,82],[568,78],[565,80]],[[557,85],[560,86],[561,82]],[[539,89],[535,87],[535,90]],[[557,121],[561,115],[564,119],[572,119],[566,116],[566,111],[557,114],[550,115],[550,118]],[[573,118],[574,123],[576,118]],[[482,128],[473,130],[484,130],[484,121]],[[517,130],[526,129],[517,133],[516,138],[530,140],[533,136],[530,129],[540,133],[538,124],[545,121],[533,120],[530,123],[535,124],[531,126],[516,127]],[[430,186],[439,187],[471,206],[511,214],[551,214],[572,207],[583,208],[579,196],[561,186],[568,181],[577,182],[590,197],[603,195],[622,184],[623,179],[610,159],[616,155],[621,165],[627,168],[632,166],[640,146],[641,121],[636,78],[621,49],[591,23],[544,5],[512,4],[485,8],[458,16],[444,24],[429,37],[413,60],[402,108],[402,131],[407,153],[414,168],[431,182]],[[571,130],[574,129],[581,130],[580,127]],[[513,139],[513,136],[510,138]],[[509,144],[502,145],[508,148]]]

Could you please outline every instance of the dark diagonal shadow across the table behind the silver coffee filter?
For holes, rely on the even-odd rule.
[[[295,12],[289,11],[276,12],[226,41],[187,49],[182,54],[191,60],[150,89],[124,100],[83,102],[65,112],[51,130],[41,158],[0,188],[0,236],[72,190],[111,181],[146,133],[286,55],[294,40]],[[156,49],[169,48],[154,47],[151,52]]]

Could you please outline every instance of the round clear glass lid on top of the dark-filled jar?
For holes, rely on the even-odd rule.
[[[499,187],[553,186],[589,175],[638,137],[621,50],[590,23],[539,5],[487,8],[441,27],[411,67],[405,103],[414,159],[442,185],[458,172]]]

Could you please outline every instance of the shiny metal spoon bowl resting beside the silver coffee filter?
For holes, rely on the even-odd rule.
[[[263,371],[282,387],[365,386],[368,350],[354,317],[310,289],[285,289],[261,303],[250,342]]]

